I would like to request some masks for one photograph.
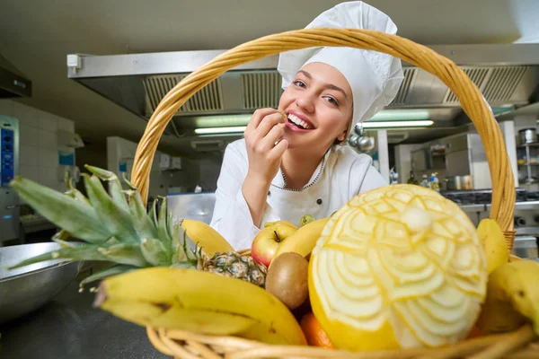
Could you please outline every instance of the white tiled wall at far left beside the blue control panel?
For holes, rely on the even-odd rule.
[[[19,119],[19,173],[40,184],[65,190],[58,176],[57,130],[75,132],[75,123],[49,112],[35,109],[17,101],[0,100],[0,115]]]

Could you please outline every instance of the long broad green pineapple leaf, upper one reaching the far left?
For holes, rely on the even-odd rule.
[[[10,186],[36,212],[74,237],[90,243],[102,243],[110,237],[95,209],[86,201],[76,200],[20,176],[16,176]]]

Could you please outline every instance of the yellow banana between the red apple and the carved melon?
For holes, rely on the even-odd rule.
[[[330,217],[326,217],[300,227],[294,234],[280,243],[273,258],[278,258],[280,254],[286,252],[296,252],[306,257],[314,249],[314,245],[318,241],[318,238],[320,238],[323,227],[325,227],[329,220]]]

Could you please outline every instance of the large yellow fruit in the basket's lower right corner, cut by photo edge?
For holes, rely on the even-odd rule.
[[[531,321],[539,335],[538,278],[539,263],[528,259],[504,263],[490,273],[476,323],[482,333],[510,331]]]

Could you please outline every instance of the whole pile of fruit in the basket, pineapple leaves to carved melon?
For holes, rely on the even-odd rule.
[[[175,220],[165,198],[146,212],[127,180],[124,189],[112,172],[87,169],[88,197],[69,182],[62,194],[13,180],[61,228],[53,241],[62,247],[15,267],[115,263],[81,285],[101,280],[95,305],[124,320],[350,351],[448,346],[526,322],[539,334],[539,263],[509,262],[496,221],[475,228],[429,188],[376,188],[329,218],[265,223],[248,253],[205,223]]]

